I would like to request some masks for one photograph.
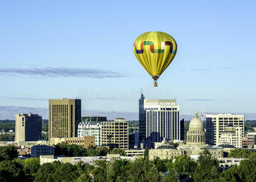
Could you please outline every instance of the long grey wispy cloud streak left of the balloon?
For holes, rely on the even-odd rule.
[[[87,78],[122,78],[129,76],[128,73],[66,67],[45,67],[45,68],[2,68],[0,75],[8,76],[40,76],[40,77],[87,77]]]

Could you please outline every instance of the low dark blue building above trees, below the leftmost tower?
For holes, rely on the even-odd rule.
[[[40,155],[54,155],[54,147],[47,145],[32,146],[31,157],[40,157]]]

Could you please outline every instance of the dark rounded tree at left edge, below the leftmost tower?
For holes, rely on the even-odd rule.
[[[18,152],[15,146],[0,146],[0,161],[13,160],[18,157]]]

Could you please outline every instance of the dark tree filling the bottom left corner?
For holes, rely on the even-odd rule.
[[[24,181],[24,171],[15,160],[4,160],[0,163],[0,181]]]

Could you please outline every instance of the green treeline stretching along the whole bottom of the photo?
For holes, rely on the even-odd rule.
[[[239,152],[238,152],[239,153]],[[240,153],[241,154],[241,153]],[[77,164],[45,163],[39,158],[18,160],[14,146],[0,147],[0,181],[177,181],[191,177],[193,181],[256,181],[256,153],[240,166],[232,166],[222,172],[218,160],[204,150],[193,160],[182,155],[172,160],[149,160],[147,153],[134,162],[128,160],[98,160],[95,166]],[[165,176],[165,172],[168,174]]]

